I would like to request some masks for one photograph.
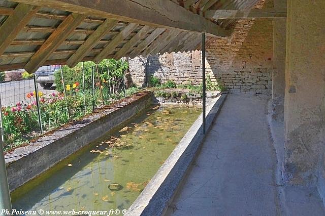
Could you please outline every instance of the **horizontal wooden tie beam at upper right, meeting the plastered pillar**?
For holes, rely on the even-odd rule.
[[[285,18],[286,9],[209,10],[204,16],[208,19]]]

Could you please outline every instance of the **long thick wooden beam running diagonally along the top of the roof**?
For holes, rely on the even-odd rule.
[[[209,36],[229,36],[231,32],[167,0],[15,0],[87,16],[116,19],[152,27],[206,32]],[[117,7],[112,7],[112,5]]]

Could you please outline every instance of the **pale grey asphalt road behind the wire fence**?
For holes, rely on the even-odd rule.
[[[43,92],[44,95],[50,95],[55,92],[55,87],[50,90],[45,90],[38,84],[39,91]],[[1,103],[2,106],[12,106],[18,101],[28,101],[26,95],[30,92],[34,92],[34,79],[21,80],[21,81],[10,81],[0,83],[1,91]]]

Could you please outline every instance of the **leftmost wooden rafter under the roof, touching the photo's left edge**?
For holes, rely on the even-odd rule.
[[[40,7],[26,4],[16,6],[12,15],[0,26],[0,56],[39,9]]]

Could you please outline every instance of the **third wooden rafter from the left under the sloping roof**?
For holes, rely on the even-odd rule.
[[[81,59],[83,59],[87,53],[94,48],[98,42],[103,38],[103,36],[117,24],[117,20],[107,19],[102,23],[90,36],[86,39],[84,44],[82,44],[76,53],[74,53],[67,64],[69,67],[75,67]]]

